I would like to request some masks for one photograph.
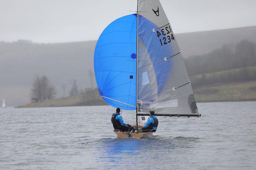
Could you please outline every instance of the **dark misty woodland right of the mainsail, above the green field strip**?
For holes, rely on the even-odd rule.
[[[184,62],[189,76],[255,66],[256,44],[242,40],[204,55],[186,58]]]

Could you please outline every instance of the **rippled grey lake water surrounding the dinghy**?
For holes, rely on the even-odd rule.
[[[256,169],[256,102],[197,106],[151,139],[117,139],[110,106],[0,108],[0,169]]]

